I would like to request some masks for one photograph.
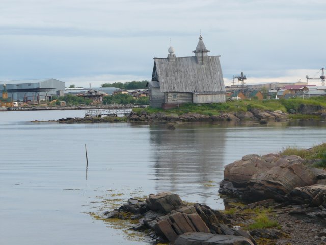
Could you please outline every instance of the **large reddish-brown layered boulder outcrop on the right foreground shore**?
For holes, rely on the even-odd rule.
[[[320,171],[324,173],[305,165],[298,156],[246,155],[225,166],[219,193],[251,201],[271,198],[317,205],[324,202],[319,194],[324,193],[323,187],[313,186],[323,178]]]

